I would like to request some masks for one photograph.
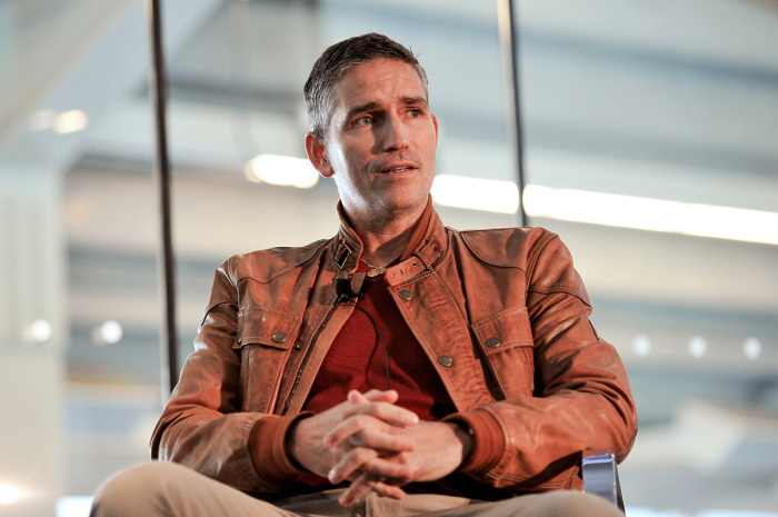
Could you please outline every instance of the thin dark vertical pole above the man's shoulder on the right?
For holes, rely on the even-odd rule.
[[[519,28],[516,22],[518,8],[515,0],[497,0],[498,24],[500,31],[500,43],[506,67],[510,80],[506,80],[510,90],[507,96],[507,103],[510,105],[509,112],[513,117],[512,125],[509,125],[510,138],[513,140],[516,151],[516,185],[519,188],[519,226],[527,226],[527,212],[521,196],[525,191],[523,173],[523,133],[521,131],[521,90],[519,88]]]

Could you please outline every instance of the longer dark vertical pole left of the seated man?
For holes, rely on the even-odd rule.
[[[157,130],[157,160],[154,185],[157,187],[161,240],[157,253],[157,275],[164,317],[160,326],[160,374],[162,399],[167,399],[178,382],[178,338],[176,336],[176,284],[173,272],[172,232],[170,217],[170,162],[168,159],[166,119],[166,73],[162,48],[161,0],[146,0],[146,14],[151,37],[151,63],[149,98],[153,102]]]

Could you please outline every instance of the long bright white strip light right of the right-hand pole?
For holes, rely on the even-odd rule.
[[[527,215],[620,228],[778,245],[778,213],[528,185]]]

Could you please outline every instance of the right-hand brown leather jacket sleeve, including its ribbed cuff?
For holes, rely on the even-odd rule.
[[[616,349],[589,322],[589,299],[567,248],[547,233],[527,256],[533,392],[449,417],[473,436],[460,470],[515,491],[580,488],[582,451],[612,450],[618,460],[629,453],[635,404]]]

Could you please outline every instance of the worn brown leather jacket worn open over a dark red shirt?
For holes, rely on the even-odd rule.
[[[265,497],[303,475],[285,435],[353,310],[337,302],[336,278],[356,270],[360,252],[342,223],[330,240],[220,266],[152,457]],[[466,468],[475,481],[516,494],[578,488],[581,451],[624,459],[637,434],[627,375],[588,320],[558,236],[456,231],[432,212],[421,243],[386,276],[458,410],[450,418],[476,429],[473,455],[497,441],[497,457]]]

